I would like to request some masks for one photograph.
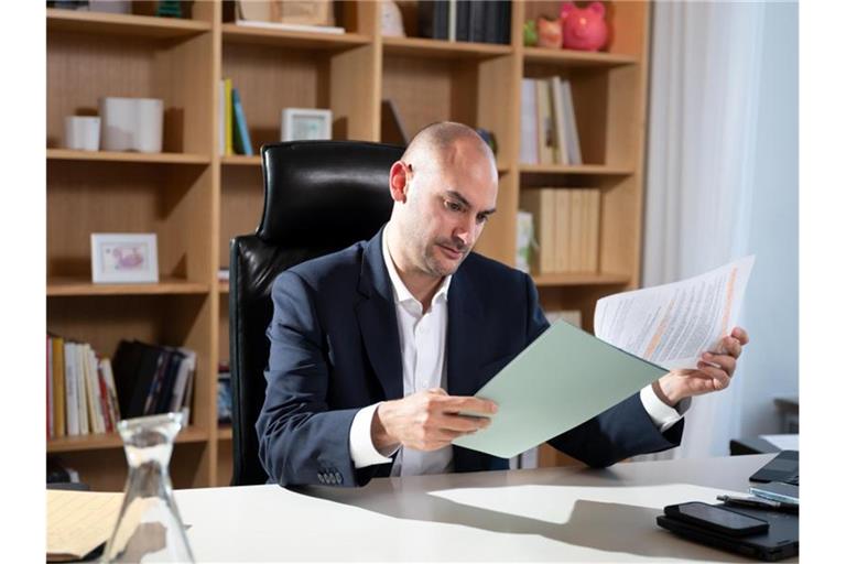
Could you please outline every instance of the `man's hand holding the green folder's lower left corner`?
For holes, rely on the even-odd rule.
[[[459,411],[494,414],[497,404],[478,398],[447,395],[441,388],[386,401],[377,408],[370,426],[373,446],[381,453],[399,445],[434,451],[490,424],[488,417],[459,415]]]

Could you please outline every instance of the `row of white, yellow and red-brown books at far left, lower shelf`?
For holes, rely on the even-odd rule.
[[[47,334],[47,438],[111,433],[120,420],[108,358]]]

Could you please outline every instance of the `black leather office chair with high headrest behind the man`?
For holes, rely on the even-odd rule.
[[[264,209],[256,235],[231,241],[229,352],[232,378],[232,486],[264,484],[256,421],[264,402],[276,274],[369,239],[388,220],[391,164],[403,148],[361,141],[264,145]]]

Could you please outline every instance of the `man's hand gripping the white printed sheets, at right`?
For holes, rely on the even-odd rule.
[[[704,352],[698,370],[672,370],[652,382],[655,394],[674,408],[684,398],[701,395],[728,388],[737,368],[737,359],[749,343],[746,330],[735,327],[719,341],[718,350]]]

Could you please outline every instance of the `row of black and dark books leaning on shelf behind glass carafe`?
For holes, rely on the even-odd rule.
[[[197,355],[187,348],[121,340],[115,352],[115,382],[124,417],[191,408]]]

